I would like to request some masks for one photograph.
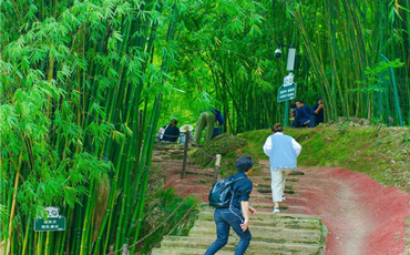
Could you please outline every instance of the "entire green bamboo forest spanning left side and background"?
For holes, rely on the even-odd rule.
[[[284,123],[290,49],[326,123],[410,126],[408,0],[0,0],[0,254],[141,241],[158,129]],[[65,231],[34,231],[50,206]]]

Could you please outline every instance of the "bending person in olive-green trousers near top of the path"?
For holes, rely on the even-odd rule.
[[[212,108],[207,111],[202,111],[198,121],[195,126],[194,141],[199,145],[202,131],[206,128],[205,142],[212,139],[214,133],[215,122],[218,122],[218,128],[224,124],[224,118],[222,116],[221,111]]]

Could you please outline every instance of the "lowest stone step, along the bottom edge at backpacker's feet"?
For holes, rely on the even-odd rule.
[[[206,249],[214,241],[216,236],[165,236],[161,243],[161,248],[165,249]],[[234,252],[238,238],[229,238],[225,247],[222,248],[223,252]],[[265,243],[258,241],[252,241],[249,247],[246,251],[247,255],[250,254],[273,254],[274,252],[286,252],[295,254],[317,254],[320,251],[320,244],[287,244],[287,243]]]

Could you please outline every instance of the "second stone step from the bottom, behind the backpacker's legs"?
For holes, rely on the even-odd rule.
[[[319,230],[300,230],[300,228],[285,228],[283,226],[256,226],[250,221],[249,230],[252,239],[267,243],[287,243],[287,244],[320,244]],[[230,236],[237,238],[234,231],[229,232]],[[189,236],[216,236],[216,226],[209,222],[197,221],[194,227],[189,231]]]

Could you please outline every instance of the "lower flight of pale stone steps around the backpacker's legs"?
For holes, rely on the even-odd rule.
[[[250,217],[249,230],[253,237],[247,255],[321,254],[324,251],[320,216],[259,212]],[[213,208],[203,206],[188,236],[165,236],[161,248],[154,248],[152,255],[204,254],[216,238],[215,231]],[[230,231],[228,244],[217,254],[232,255],[238,241]]]

